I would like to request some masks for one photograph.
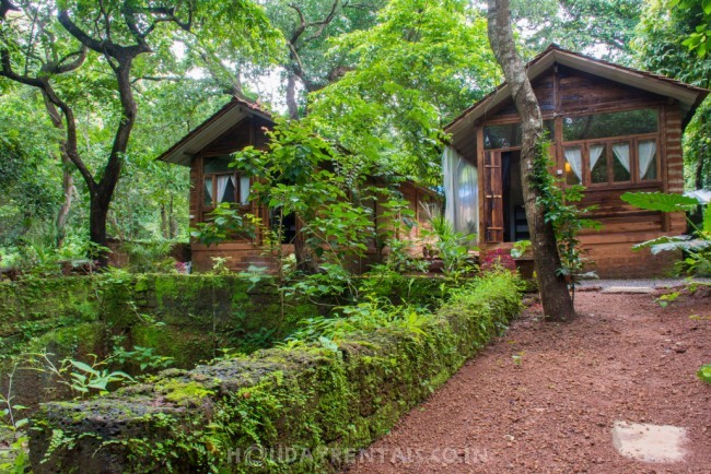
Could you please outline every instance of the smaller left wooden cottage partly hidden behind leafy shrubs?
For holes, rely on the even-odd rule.
[[[255,149],[266,149],[268,137],[266,131],[273,127],[269,112],[254,103],[233,97],[230,103],[218,110],[212,117],[171,146],[158,159],[187,166],[190,168],[190,226],[206,222],[210,211],[218,203],[229,202],[240,208],[244,213],[250,213],[261,218],[268,226],[277,225],[269,215],[267,208],[249,199],[254,177],[241,176],[230,168],[230,155],[252,145]],[[372,178],[371,183],[385,186],[382,180]],[[440,197],[427,188],[411,181],[398,185],[403,198],[409,202],[416,214],[416,220],[424,224],[421,204],[439,203]],[[373,203],[373,218],[382,220],[382,208]],[[382,224],[382,221],[378,221]],[[293,252],[293,238],[299,230],[299,220],[288,216],[282,222],[284,232],[283,251]],[[420,226],[413,226],[404,238],[416,240]],[[232,270],[245,270],[249,265],[269,268],[272,259],[264,256],[263,238],[257,234],[254,238],[238,237],[220,245],[205,246],[190,242],[193,268],[196,271],[210,270],[213,257],[228,258],[228,266]],[[380,252],[371,248],[368,252],[366,264],[376,260]]]

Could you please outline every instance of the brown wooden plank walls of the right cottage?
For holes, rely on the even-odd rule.
[[[599,232],[587,230],[581,238],[588,258],[596,263],[596,270],[603,277],[639,277],[662,275],[669,271],[674,256],[652,257],[649,252],[632,252],[636,244],[662,235],[678,235],[686,228],[681,214],[663,214],[639,210],[625,203],[620,195],[626,191],[664,191],[681,192],[684,190],[684,162],[681,158],[681,116],[678,103],[642,90],[607,81],[591,74],[558,67],[558,73],[549,70],[534,82],[544,119],[561,116],[580,116],[591,112],[610,112],[636,108],[656,108],[660,110],[660,130],[657,154],[661,163],[660,180],[655,182],[615,186],[587,189],[581,205],[595,205],[598,209],[591,215],[603,224]],[[477,123],[478,142],[481,142],[483,126],[512,123],[518,121],[513,103],[508,100],[489,111]],[[560,119],[557,120],[560,123]],[[561,134],[557,123],[557,135]],[[485,153],[479,146],[477,152],[480,169],[486,165]],[[562,168],[564,157],[561,143],[556,144],[557,168]],[[486,203],[483,197],[492,193],[496,186],[488,181],[487,173],[480,173],[479,195],[481,228],[480,236],[486,236]],[[490,179],[490,178],[489,178]],[[506,190],[503,190],[506,192]],[[511,244],[486,244],[480,239],[482,249],[510,248]]]

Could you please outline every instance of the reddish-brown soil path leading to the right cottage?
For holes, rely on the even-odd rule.
[[[711,364],[711,294],[665,308],[660,294],[579,293],[568,323],[529,301],[347,472],[711,473],[711,384],[696,377]],[[610,432],[622,420],[686,428],[684,461],[622,457]]]

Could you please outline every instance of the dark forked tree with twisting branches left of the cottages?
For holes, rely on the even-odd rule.
[[[241,24],[241,28],[225,29],[228,16],[231,25]],[[170,49],[180,35],[187,36],[196,28],[202,28],[206,35],[230,32],[233,36],[219,39],[234,44],[268,44],[275,39],[263,10],[249,1],[23,0],[14,4],[0,0],[0,76],[39,90],[50,115],[63,121],[62,153],[88,188],[90,239],[98,246],[106,244],[108,209],[137,119],[137,71],[139,76],[149,71],[160,75],[165,64],[161,59],[171,58]],[[51,61],[37,54],[43,50],[51,51]],[[148,59],[151,55],[154,60]],[[91,97],[97,92],[62,79],[84,69],[102,76],[109,91],[102,91],[104,96],[97,100],[116,97],[110,147],[103,166],[94,171],[80,152],[72,98]],[[103,252],[101,262],[106,262]]]

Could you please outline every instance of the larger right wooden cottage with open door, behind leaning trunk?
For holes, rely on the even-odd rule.
[[[548,47],[527,64],[563,186],[585,186],[581,205],[603,224],[582,245],[601,276],[661,274],[668,257],[642,256],[634,244],[678,235],[684,216],[626,204],[626,191],[681,192],[681,133],[709,91],[580,54]],[[445,131],[447,217],[477,233],[486,251],[528,238],[521,187],[521,125],[504,83]]]

